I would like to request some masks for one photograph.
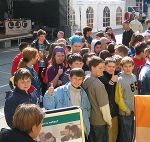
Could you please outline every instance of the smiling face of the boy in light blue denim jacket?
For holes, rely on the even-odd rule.
[[[83,82],[83,77],[78,77],[76,75],[69,77],[69,79],[70,79],[71,85],[75,88],[80,87]]]

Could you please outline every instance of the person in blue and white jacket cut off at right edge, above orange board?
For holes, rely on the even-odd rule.
[[[150,47],[144,50],[145,56],[147,58],[146,64],[142,67],[139,74],[140,81],[140,94],[149,95],[150,94]]]

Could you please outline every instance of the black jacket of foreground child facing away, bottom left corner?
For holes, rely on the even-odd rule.
[[[28,134],[18,129],[2,129],[0,142],[36,142]]]

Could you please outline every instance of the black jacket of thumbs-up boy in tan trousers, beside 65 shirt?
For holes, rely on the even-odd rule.
[[[112,117],[115,117],[118,115],[118,106],[115,103],[115,88],[116,83],[113,83],[111,81],[112,75],[108,72],[104,71],[104,75],[100,77],[100,81],[105,85],[105,89],[108,94],[109,99],[109,106],[110,106],[110,113]]]

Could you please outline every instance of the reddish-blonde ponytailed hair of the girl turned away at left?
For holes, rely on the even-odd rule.
[[[31,61],[33,58],[35,58],[37,54],[38,54],[38,50],[33,47],[27,47],[27,48],[23,49],[22,59],[20,60],[20,62],[18,64],[18,69],[26,68],[27,63],[29,61]]]

